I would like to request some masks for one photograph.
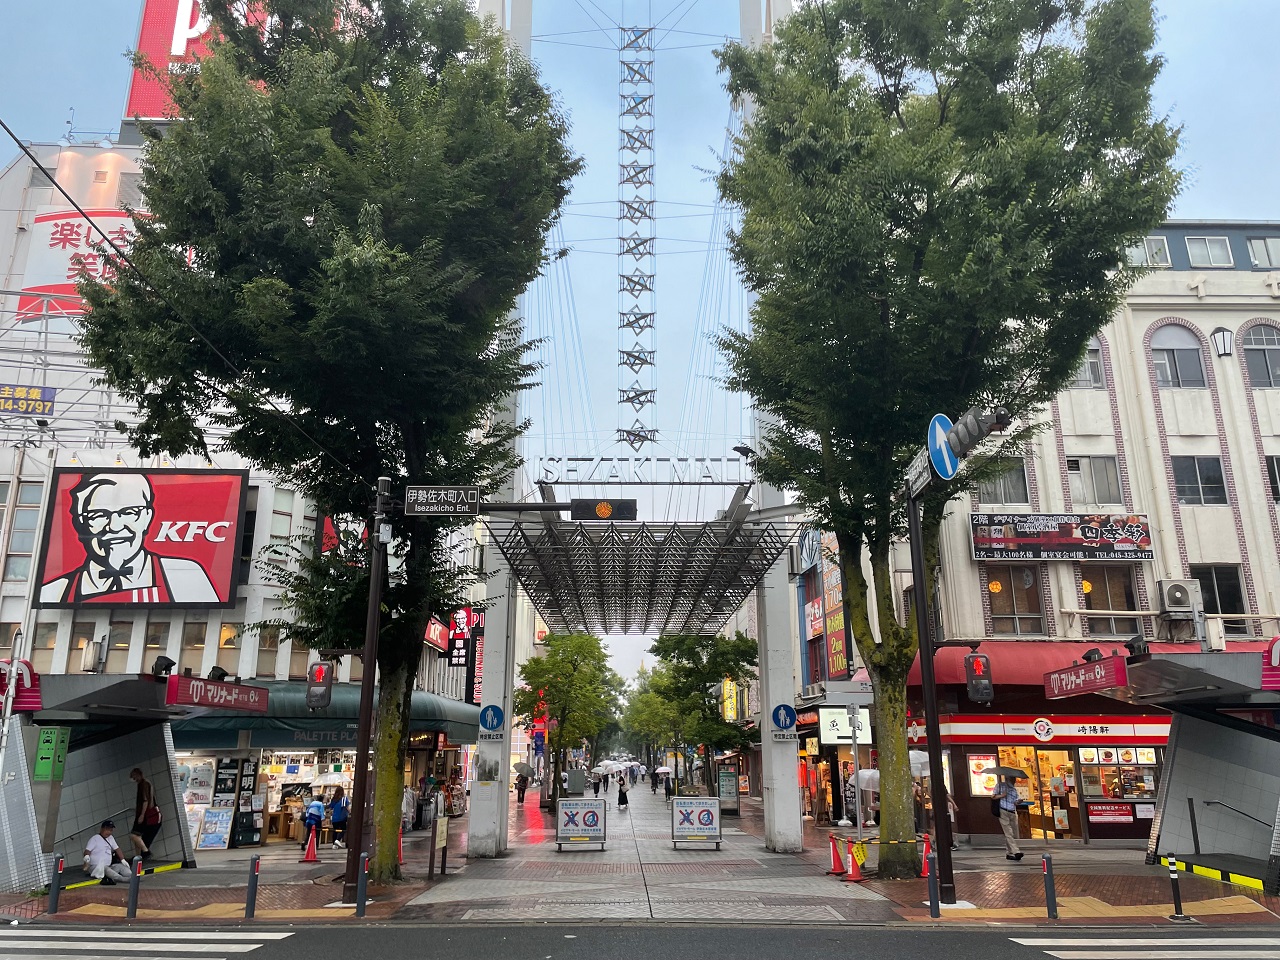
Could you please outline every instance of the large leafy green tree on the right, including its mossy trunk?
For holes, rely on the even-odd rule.
[[[756,475],[837,536],[888,840],[913,835],[918,637],[890,566],[905,465],[937,411],[1033,420],[1121,303],[1125,248],[1179,184],[1153,41],[1149,0],[828,0],[718,54],[754,108],[719,175],[753,328],[722,347],[767,419]],[[931,564],[959,489],[925,503]],[[914,846],[882,850],[882,876],[916,869]]]

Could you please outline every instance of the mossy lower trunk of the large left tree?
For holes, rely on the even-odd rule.
[[[372,669],[372,666],[366,667]],[[413,672],[404,664],[383,667],[378,682],[378,717],[374,726],[374,822],[369,855],[370,883],[401,878],[399,827],[404,799],[404,744],[408,741],[410,698]],[[358,838],[357,838],[358,841]]]

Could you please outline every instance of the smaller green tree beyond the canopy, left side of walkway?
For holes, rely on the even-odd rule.
[[[513,709],[524,717],[547,717],[547,755],[552,760],[550,799],[559,796],[564,751],[581,746],[616,716],[616,677],[609,654],[590,634],[548,634],[541,657],[520,668],[522,687]]]

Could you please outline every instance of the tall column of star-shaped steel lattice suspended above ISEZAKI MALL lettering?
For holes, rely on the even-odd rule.
[[[658,438],[654,388],[653,27],[621,27],[618,44],[618,439]]]

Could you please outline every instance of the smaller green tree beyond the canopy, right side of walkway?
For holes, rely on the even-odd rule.
[[[649,653],[666,667],[658,687],[667,687],[690,719],[689,742],[703,748],[703,782],[709,790],[716,751],[740,750],[751,742],[745,722],[724,719],[719,695],[726,680],[745,686],[755,678],[759,644],[741,631],[733,636],[668,634],[659,636]]]

